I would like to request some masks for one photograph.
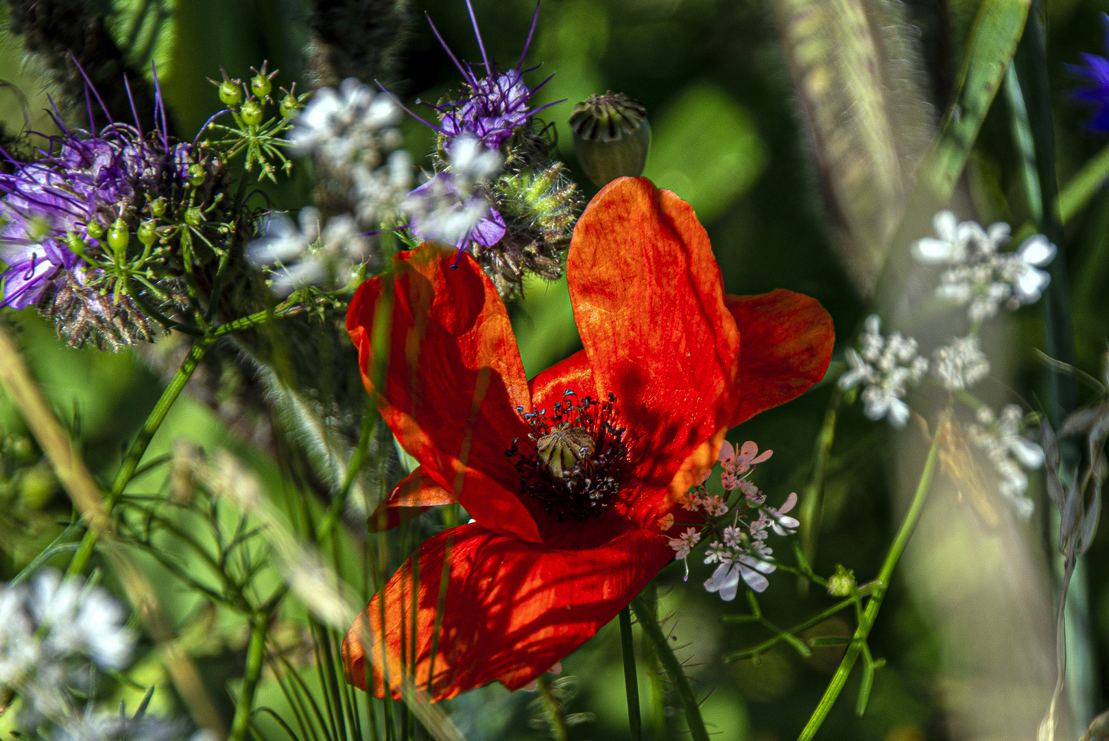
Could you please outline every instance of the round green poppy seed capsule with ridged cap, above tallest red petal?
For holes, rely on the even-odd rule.
[[[602,186],[623,175],[638,176],[651,148],[651,124],[638,100],[611,90],[590,95],[570,114],[573,151],[581,169]]]

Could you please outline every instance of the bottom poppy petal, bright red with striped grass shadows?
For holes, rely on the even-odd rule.
[[[603,518],[601,518],[603,519]],[[433,536],[419,549],[415,680],[433,700],[499,680],[526,686],[581,646],[673,559],[668,540],[611,516],[607,541],[576,542],[567,531],[545,544],[497,535],[474,522]],[[449,549],[449,555],[448,555]],[[436,631],[444,564],[447,595]],[[401,646],[411,672],[411,559],[385,586],[385,640],[378,597],[352,627],[344,643],[350,681],[365,689],[366,646],[374,647],[374,692],[384,694],[380,646],[388,647],[389,684],[398,694]],[[364,640],[373,636],[375,640]],[[404,639],[404,643],[401,642]],[[434,668],[431,644],[436,644]]]

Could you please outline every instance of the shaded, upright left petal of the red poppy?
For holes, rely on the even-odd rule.
[[[391,285],[376,277],[355,292],[347,332],[373,395],[374,323],[388,312],[381,417],[477,521],[538,540],[542,510],[533,507],[533,516],[535,503],[520,499],[519,474],[505,454],[529,432],[515,410],[531,408],[520,353],[492,282],[468,254],[452,270],[456,255],[430,243],[398,253]]]

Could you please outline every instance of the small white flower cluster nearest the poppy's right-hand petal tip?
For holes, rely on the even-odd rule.
[[[840,376],[840,388],[862,386],[863,413],[868,418],[885,417],[894,427],[904,427],[909,416],[905,394],[927,373],[928,359],[920,357],[912,337],[903,337],[899,332],[883,336],[877,314],[866,317],[864,327],[862,352],[847,348],[851,367]]]

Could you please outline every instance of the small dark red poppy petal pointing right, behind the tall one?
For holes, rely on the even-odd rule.
[[[743,333],[740,405],[729,425],[734,427],[801,396],[823,378],[835,328],[818,301],[792,291],[726,296],[725,302]]]

